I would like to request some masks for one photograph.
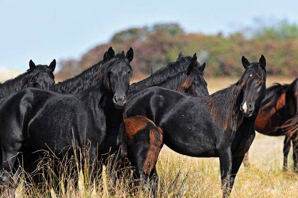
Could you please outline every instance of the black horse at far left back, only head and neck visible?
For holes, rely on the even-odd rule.
[[[0,83],[0,98],[19,91],[25,87],[37,87],[41,89],[50,89],[55,83],[53,72],[56,67],[54,59],[49,66],[35,65],[32,60],[29,61],[29,69],[27,72],[19,75],[14,79],[6,80]]]

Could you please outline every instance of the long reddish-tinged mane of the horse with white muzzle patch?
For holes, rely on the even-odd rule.
[[[252,63],[257,64],[257,63]],[[251,66],[252,67],[252,66]],[[231,128],[236,131],[242,123],[243,116],[239,109],[240,98],[243,97],[242,89],[250,75],[257,72],[253,68],[248,68],[241,79],[230,87],[219,90],[210,96],[206,96],[207,109],[215,123],[222,126],[223,132]],[[262,72],[257,72],[261,76],[258,83],[262,83],[264,76]]]

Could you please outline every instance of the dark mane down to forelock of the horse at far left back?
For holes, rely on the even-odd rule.
[[[14,79],[8,79],[3,83],[0,83],[0,98],[5,98],[24,87],[33,86],[32,79],[43,71],[43,66],[47,65],[37,65],[35,69],[28,69],[25,73],[20,74]]]

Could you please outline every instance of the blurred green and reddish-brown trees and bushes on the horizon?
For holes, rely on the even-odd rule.
[[[167,63],[175,61],[180,51],[184,55],[197,53],[206,62],[206,75],[239,77],[241,56],[258,61],[261,53],[267,59],[267,73],[273,76],[298,77],[298,26],[287,20],[271,25],[257,24],[224,36],[186,33],[178,24],[156,24],[130,28],[116,33],[108,43],[87,51],[79,60],[60,62],[58,79],[80,73],[103,59],[110,47],[116,51],[134,49],[132,66],[136,79],[143,78]]]

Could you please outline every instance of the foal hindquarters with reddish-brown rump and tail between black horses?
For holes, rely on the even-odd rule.
[[[159,181],[155,165],[163,145],[163,131],[141,116],[124,119],[124,124],[128,156],[135,166],[138,183],[145,188],[149,185],[155,197]]]

